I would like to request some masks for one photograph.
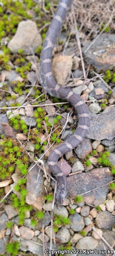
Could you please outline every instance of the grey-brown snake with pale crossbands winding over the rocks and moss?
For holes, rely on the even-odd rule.
[[[73,0],[59,1],[56,13],[50,23],[43,43],[39,68],[40,83],[45,91],[51,96],[67,100],[75,108],[78,115],[78,125],[73,135],[53,149],[48,157],[49,170],[57,179],[57,206],[64,203],[68,190],[67,178],[57,164],[58,159],[81,143],[86,137],[90,126],[89,110],[86,103],[70,88],[65,88],[59,85],[52,74],[51,68],[53,47],[71,8],[72,2]]]

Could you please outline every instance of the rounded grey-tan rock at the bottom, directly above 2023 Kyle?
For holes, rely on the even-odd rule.
[[[79,240],[79,242],[76,244],[77,249],[87,249],[87,250],[93,250],[97,247],[98,241],[94,239],[92,236],[85,236]]]

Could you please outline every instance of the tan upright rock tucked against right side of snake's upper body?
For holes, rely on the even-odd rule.
[[[54,57],[52,71],[57,83],[64,84],[70,78],[72,64],[72,56],[57,55]],[[61,74],[61,76],[59,76],[59,74]]]

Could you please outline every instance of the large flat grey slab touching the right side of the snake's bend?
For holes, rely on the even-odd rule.
[[[90,116],[91,123],[87,138],[93,140],[112,140],[115,134],[115,108],[106,107],[101,114],[91,114]]]

